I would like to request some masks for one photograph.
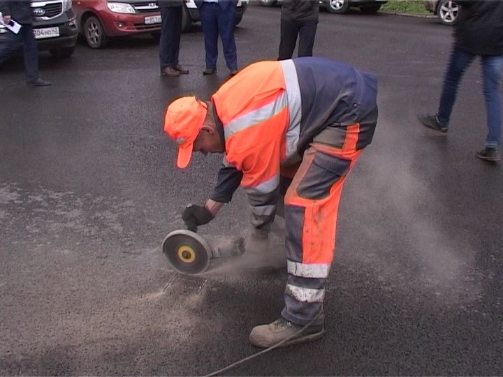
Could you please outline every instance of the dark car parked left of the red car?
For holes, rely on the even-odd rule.
[[[31,9],[38,50],[49,50],[54,57],[70,57],[78,36],[71,0],[34,1]],[[0,43],[8,32],[0,26]]]

